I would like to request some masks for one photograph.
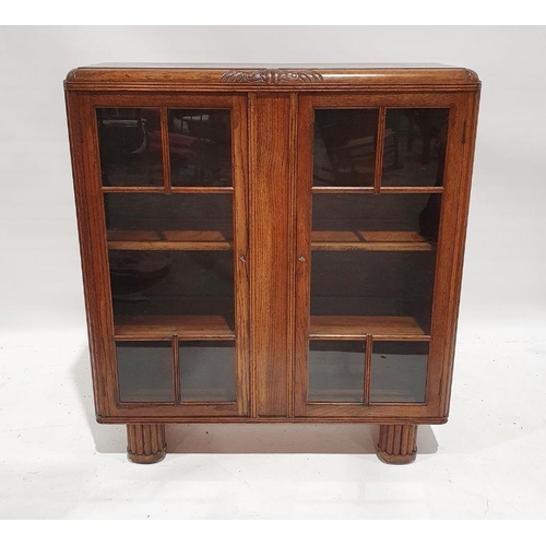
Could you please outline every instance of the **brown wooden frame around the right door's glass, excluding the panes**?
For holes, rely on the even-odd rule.
[[[348,404],[308,402],[308,344],[310,331],[311,209],[314,108],[449,108],[446,169],[438,236],[426,399],[424,404]],[[444,419],[456,331],[462,260],[475,135],[476,92],[443,93],[300,93],[296,217],[295,416],[353,417],[411,420]],[[380,133],[379,133],[380,134]],[[378,168],[376,162],[376,168]],[[379,168],[381,163],[379,162]],[[373,192],[373,188],[367,190]],[[392,190],[391,190],[392,192]],[[344,337],[347,339],[347,337]],[[370,336],[368,337],[370,339]],[[406,337],[407,339],[407,337]],[[413,339],[413,337],[412,337]],[[401,341],[381,336],[381,341]],[[415,339],[415,341],[418,341]],[[425,341],[425,340],[423,340]],[[368,365],[370,359],[367,358]],[[365,370],[369,378],[369,370]],[[369,381],[369,379],[368,379]],[[369,388],[369,387],[368,387]]]

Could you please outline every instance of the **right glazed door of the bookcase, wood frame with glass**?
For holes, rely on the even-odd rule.
[[[455,103],[299,97],[297,416],[438,413]]]

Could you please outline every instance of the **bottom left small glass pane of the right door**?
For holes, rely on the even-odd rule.
[[[365,343],[309,342],[309,402],[364,402]]]

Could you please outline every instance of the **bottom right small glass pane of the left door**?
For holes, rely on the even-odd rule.
[[[235,342],[181,342],[182,402],[235,402]]]

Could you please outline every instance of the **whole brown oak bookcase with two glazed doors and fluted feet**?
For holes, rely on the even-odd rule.
[[[96,416],[446,423],[480,83],[444,66],[97,66],[64,82]],[[334,426],[334,425],[332,425]]]

